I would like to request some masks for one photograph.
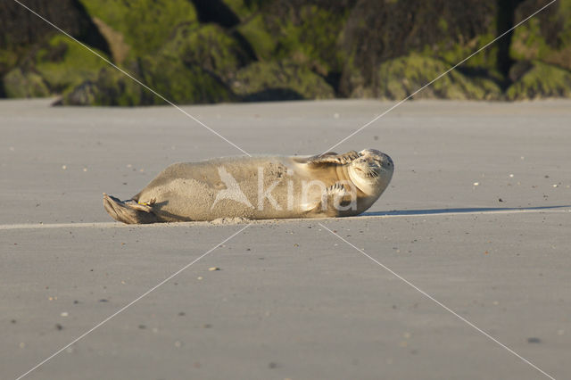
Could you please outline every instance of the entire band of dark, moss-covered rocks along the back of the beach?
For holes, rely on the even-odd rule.
[[[174,103],[400,100],[549,0],[22,0]],[[415,98],[569,96],[571,0]],[[0,96],[164,103],[12,1],[0,4]]]

